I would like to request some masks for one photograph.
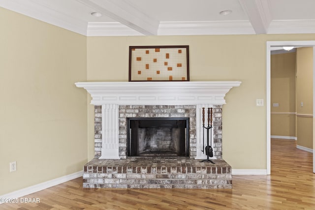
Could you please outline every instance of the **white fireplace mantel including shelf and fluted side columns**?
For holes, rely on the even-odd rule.
[[[202,107],[225,104],[225,94],[239,81],[207,82],[78,82],[92,96],[91,104],[102,106],[102,148],[100,159],[119,159],[119,105],[196,105]],[[202,154],[201,119],[196,116],[196,159]]]

